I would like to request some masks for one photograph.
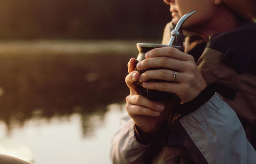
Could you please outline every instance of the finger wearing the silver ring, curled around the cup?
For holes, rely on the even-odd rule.
[[[179,76],[178,76],[179,74]],[[150,79],[157,79],[157,80],[165,80],[170,82],[179,83],[185,80],[185,74],[177,73],[174,78],[174,71],[169,69],[157,69],[157,70],[148,70],[140,75],[139,81],[145,82]]]

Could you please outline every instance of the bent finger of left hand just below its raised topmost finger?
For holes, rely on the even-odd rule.
[[[133,71],[125,77],[125,83],[130,88],[131,94],[137,93],[137,81],[139,80],[139,72]]]

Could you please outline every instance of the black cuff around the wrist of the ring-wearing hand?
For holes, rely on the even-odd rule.
[[[177,112],[181,114],[181,117],[194,112],[196,109],[204,105],[211,97],[213,97],[214,93],[214,89],[211,86],[207,86],[195,99],[181,104],[177,108]]]

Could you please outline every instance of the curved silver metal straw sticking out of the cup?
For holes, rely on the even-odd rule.
[[[171,39],[170,39],[168,45],[172,45],[172,44],[173,44],[174,39],[177,38],[177,37],[180,35],[180,33],[178,32],[178,30],[179,30],[180,27],[182,26],[183,22],[184,22],[188,17],[190,17],[192,14],[194,14],[194,13],[195,13],[195,10],[189,11],[189,12],[187,12],[186,14],[184,14],[184,15],[180,18],[180,20],[178,21],[178,23],[177,23],[175,29],[171,31]]]

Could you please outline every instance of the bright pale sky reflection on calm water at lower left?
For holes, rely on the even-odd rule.
[[[111,104],[103,116],[32,118],[23,128],[14,127],[10,138],[31,149],[35,164],[111,164],[110,141],[124,112],[124,105]]]

